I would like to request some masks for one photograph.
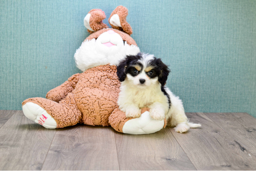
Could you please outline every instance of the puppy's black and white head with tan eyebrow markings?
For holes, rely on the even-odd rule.
[[[117,66],[119,80],[141,88],[160,83],[164,86],[169,75],[169,68],[154,55],[138,53],[129,55]]]

